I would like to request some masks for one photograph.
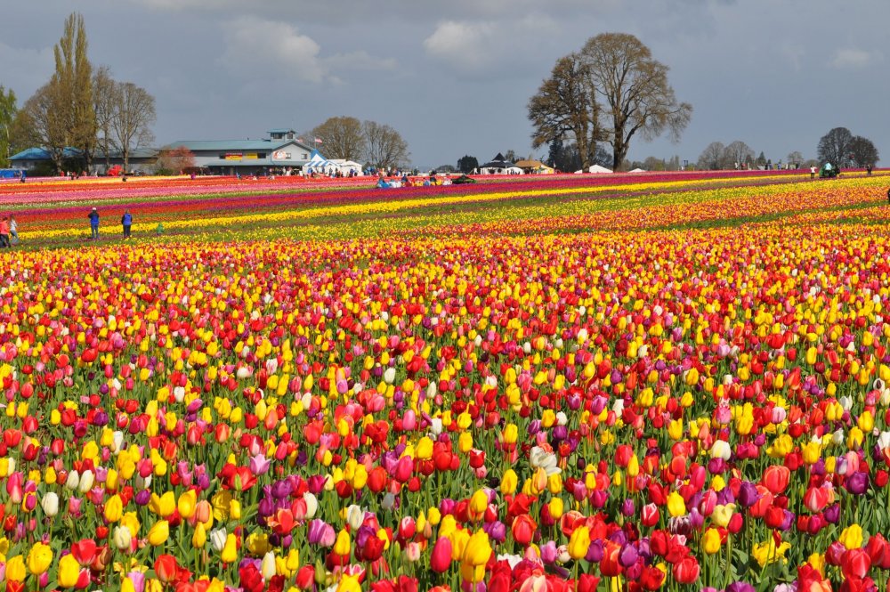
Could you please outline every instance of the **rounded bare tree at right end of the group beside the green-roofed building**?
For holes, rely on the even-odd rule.
[[[132,82],[117,83],[114,90],[113,115],[110,121],[114,142],[129,170],[130,153],[135,148],[154,142],[151,125],[155,122],[155,98],[142,86]]]

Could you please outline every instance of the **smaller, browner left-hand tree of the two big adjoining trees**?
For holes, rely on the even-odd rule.
[[[531,145],[538,149],[556,140],[574,141],[581,166],[594,164],[596,142],[604,140],[599,123],[599,104],[590,70],[578,53],[556,61],[550,77],[538,88],[528,105],[534,131]]]

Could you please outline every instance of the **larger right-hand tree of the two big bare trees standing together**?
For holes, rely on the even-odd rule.
[[[679,140],[692,118],[692,105],[677,102],[667,83],[667,66],[652,59],[639,39],[625,33],[597,35],[584,45],[581,61],[603,97],[613,169],[619,168],[637,133],[651,140],[667,132],[672,141]]]

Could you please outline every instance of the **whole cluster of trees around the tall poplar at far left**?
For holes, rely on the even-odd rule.
[[[88,171],[97,154],[107,169],[112,152],[127,170],[133,150],[154,141],[154,97],[139,85],[115,80],[106,66],[93,68],[87,49],[84,17],[72,13],[53,48],[49,81],[21,109],[15,93],[0,86],[0,165],[9,166],[14,152],[42,146],[56,172]]]

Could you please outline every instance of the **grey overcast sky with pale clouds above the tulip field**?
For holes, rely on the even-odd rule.
[[[417,166],[532,151],[526,104],[590,36],[630,33],[670,68],[692,122],[628,158],[747,142],[814,158],[829,129],[890,162],[888,0],[40,0],[4,3],[0,85],[23,103],[72,10],[94,65],[157,99],[157,145],[261,138],[349,115],[396,128]]]

